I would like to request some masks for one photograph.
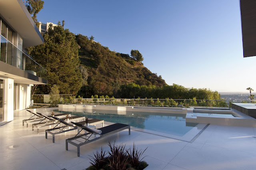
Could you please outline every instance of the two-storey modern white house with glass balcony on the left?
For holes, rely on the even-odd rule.
[[[30,106],[33,84],[47,84],[46,70],[24,48],[44,39],[22,0],[0,0],[0,124]]]

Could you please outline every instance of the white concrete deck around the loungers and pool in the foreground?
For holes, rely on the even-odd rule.
[[[109,140],[126,147],[133,142],[140,149],[148,147],[144,160],[149,166],[145,170],[256,169],[256,128],[210,125],[193,143],[134,130],[128,135],[124,130],[82,146],[77,157],[74,146],[65,150],[65,139],[77,131],[57,135],[52,143],[50,135],[45,139],[44,130],[36,134],[31,125],[22,126],[22,120],[30,116],[25,110],[14,112],[14,120],[0,126],[1,170],[83,170],[90,166],[88,155],[101,146],[108,149]],[[9,148],[12,145],[17,148]]]

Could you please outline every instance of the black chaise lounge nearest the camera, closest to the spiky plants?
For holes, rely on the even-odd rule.
[[[85,130],[87,132],[85,134],[80,134],[80,132],[82,132],[82,130],[81,130],[73,138],[66,139],[66,150],[68,150],[68,143],[76,146],[77,147],[77,156],[80,156],[80,146],[82,146],[82,145],[88,144],[90,142],[93,142],[100,138],[104,138],[105,136],[109,136],[111,134],[120,132],[125,129],[129,129],[129,135],[131,134],[131,127],[130,127],[130,125],[127,125],[127,124],[116,123],[116,124],[112,124],[112,125],[105,126],[103,128],[99,128],[99,129],[95,130],[95,129],[90,129],[86,126],[83,126],[79,123],[75,123],[75,122],[71,122],[71,123],[78,126],[79,128],[82,128],[82,130]],[[99,130],[101,131],[101,133],[98,132]],[[90,137],[93,134],[95,134],[95,135],[97,134],[100,136],[97,138],[90,139]]]

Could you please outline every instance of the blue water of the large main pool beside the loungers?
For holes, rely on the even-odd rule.
[[[114,110],[86,110],[81,112],[68,112],[63,110],[54,111],[101,119],[107,122],[129,124],[130,126],[134,126],[136,128],[153,130],[156,132],[162,132],[176,136],[183,136],[197,125],[197,123],[186,124],[186,114]]]

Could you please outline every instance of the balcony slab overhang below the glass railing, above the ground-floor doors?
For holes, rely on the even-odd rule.
[[[47,84],[48,81],[0,61],[0,76],[14,79],[14,83]]]

